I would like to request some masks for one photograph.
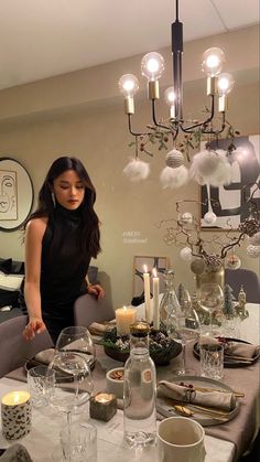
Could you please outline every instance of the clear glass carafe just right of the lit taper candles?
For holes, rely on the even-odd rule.
[[[181,308],[174,290],[173,269],[165,269],[163,277],[165,281],[165,292],[160,304],[160,324],[162,329],[167,332],[170,319],[172,325],[175,313],[181,310]]]

